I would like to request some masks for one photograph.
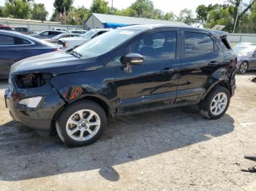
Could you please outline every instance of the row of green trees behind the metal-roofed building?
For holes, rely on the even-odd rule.
[[[191,9],[182,9],[178,15],[173,12],[162,12],[156,9],[150,0],[137,0],[126,9],[110,7],[108,1],[93,0],[91,7],[74,7],[73,0],[55,0],[55,11],[50,20],[72,25],[83,25],[92,12],[124,15],[130,17],[146,17],[160,20],[174,20],[188,25],[202,25],[212,28],[215,25],[225,26],[223,29],[232,32],[236,24],[238,33],[256,33],[256,1],[227,0],[225,4],[199,5],[195,15]],[[44,4],[36,4],[34,0],[6,0],[0,7],[0,17],[13,17],[34,20],[46,20],[48,12]]]

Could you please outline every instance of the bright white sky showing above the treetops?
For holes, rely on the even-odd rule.
[[[50,17],[53,13],[53,1],[54,0],[34,0],[36,3],[45,4],[46,9],[49,12]],[[75,7],[84,6],[89,8],[91,6],[92,0],[75,0],[74,5]],[[109,1],[109,6],[111,5],[111,0]],[[124,9],[129,7],[133,2],[136,0],[113,0],[113,7],[118,9]],[[163,12],[174,12],[176,15],[180,12],[181,9],[192,9],[195,13],[195,9],[199,4],[222,4],[225,0],[151,0],[154,3],[154,7],[157,9],[161,9]],[[4,4],[4,0],[0,0],[0,6]]]

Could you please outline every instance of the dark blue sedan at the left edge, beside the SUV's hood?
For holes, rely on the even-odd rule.
[[[56,50],[53,44],[34,37],[0,30],[0,79],[9,77],[12,63]]]

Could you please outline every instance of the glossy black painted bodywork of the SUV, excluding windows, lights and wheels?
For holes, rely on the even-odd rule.
[[[7,105],[15,120],[48,132],[52,122],[68,104],[80,98],[89,98],[103,106],[110,116],[129,114],[173,106],[198,104],[214,85],[222,84],[233,95],[236,88],[236,56],[232,50],[222,51],[219,40],[223,33],[186,27],[130,26],[141,30],[138,34],[153,31],[176,30],[178,32],[177,58],[170,63],[141,64],[126,71],[120,64],[111,64],[116,55],[129,52],[129,42],[97,58],[75,58],[66,52],[50,53],[29,58],[12,66],[10,89],[6,90]],[[214,39],[217,50],[211,55],[184,58],[182,32],[194,30],[207,33]],[[215,36],[215,37],[214,37]],[[37,63],[34,65],[33,63]],[[19,89],[15,86],[17,74],[50,72],[53,79],[43,87]],[[77,92],[76,90],[79,90]],[[72,94],[76,92],[76,98]],[[38,109],[20,109],[18,101],[43,95]],[[30,120],[31,119],[31,120]],[[42,125],[39,125],[40,121]]]

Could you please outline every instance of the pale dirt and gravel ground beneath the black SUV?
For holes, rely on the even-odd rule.
[[[256,190],[255,72],[219,120],[196,106],[120,117],[88,147],[68,148],[13,122],[0,83],[0,190]]]

